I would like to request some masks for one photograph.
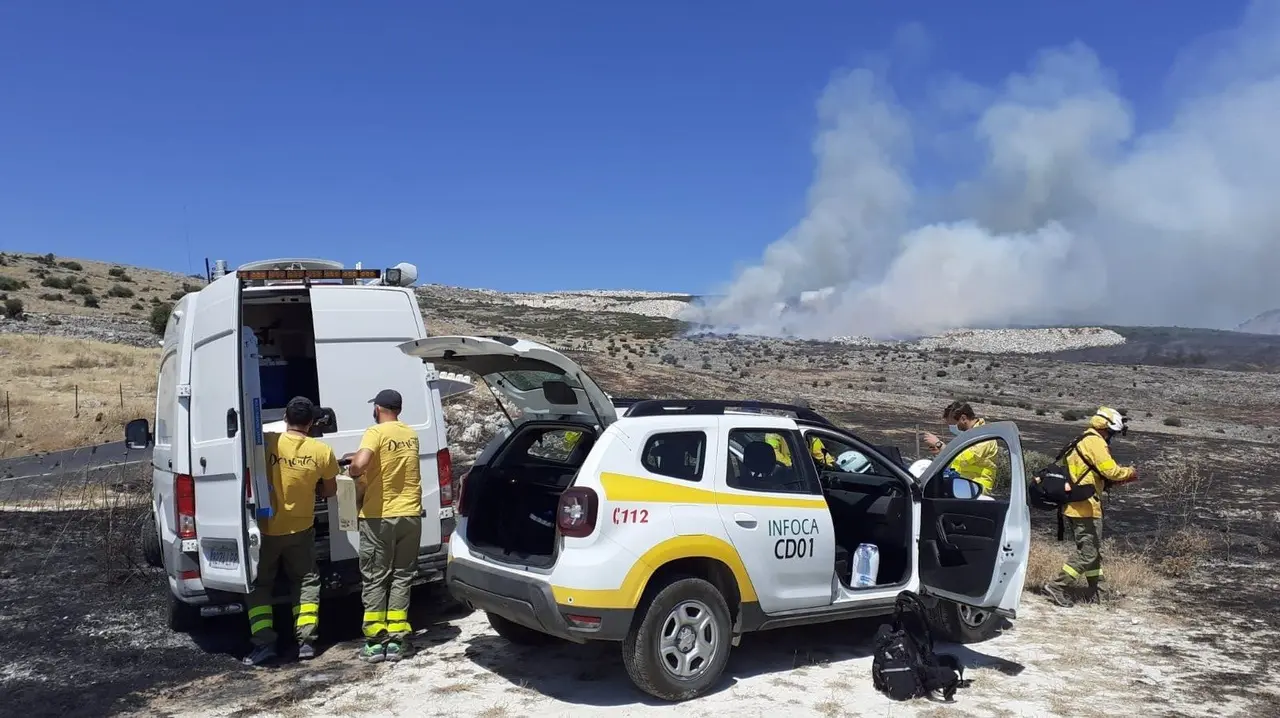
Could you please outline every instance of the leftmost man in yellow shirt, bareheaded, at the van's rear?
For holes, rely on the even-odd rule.
[[[257,580],[248,596],[248,623],[253,649],[244,663],[261,666],[275,658],[275,626],[271,589],[276,573],[288,577],[297,603],[293,605],[298,658],[315,658],[320,614],[320,575],[316,571],[315,506],[320,495],[332,497],[338,486],[338,459],[333,449],[310,438],[316,407],[306,397],[294,397],[284,407],[284,434],[266,434],[266,470],[271,481],[274,516],[262,522],[262,548]]]

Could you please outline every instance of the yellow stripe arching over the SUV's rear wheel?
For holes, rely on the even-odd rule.
[[[654,481],[657,483],[657,481]],[[682,488],[682,486],[677,486]],[[710,493],[710,491],[707,491]],[[681,502],[687,503],[687,502]],[[635,608],[640,605],[640,595],[654,571],[666,563],[681,558],[714,558],[728,566],[737,581],[737,591],[746,603],[759,600],[755,595],[755,586],[746,573],[737,549],[723,539],[708,536],[705,534],[692,536],[676,536],[653,546],[636,561],[622,580],[622,586],[617,589],[568,589],[564,586],[552,586],[552,595],[561,605],[576,608]]]

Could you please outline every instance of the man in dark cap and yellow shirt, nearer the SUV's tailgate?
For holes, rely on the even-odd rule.
[[[365,646],[370,663],[399,660],[412,646],[408,599],[422,538],[422,475],[417,433],[399,420],[403,399],[383,389],[370,402],[374,425],[352,454],[358,479],[360,573],[364,578]]]

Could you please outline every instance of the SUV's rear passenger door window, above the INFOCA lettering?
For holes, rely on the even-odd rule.
[[[820,493],[801,465],[805,454],[794,431],[735,429],[728,433],[726,483],[748,491]]]

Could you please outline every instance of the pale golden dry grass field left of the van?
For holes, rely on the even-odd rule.
[[[0,457],[120,440],[127,421],[155,412],[159,360],[159,349],[0,334],[10,412],[0,413]]]

